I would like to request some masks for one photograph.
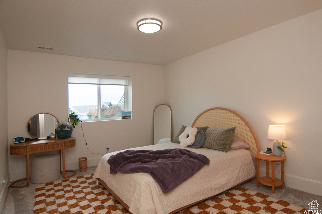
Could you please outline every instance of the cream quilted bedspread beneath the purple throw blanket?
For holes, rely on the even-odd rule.
[[[163,150],[167,148],[182,148],[178,143],[163,143],[131,150]],[[205,165],[191,178],[180,184],[174,190],[162,193],[156,181],[147,173],[111,175],[107,160],[111,152],[102,157],[94,173],[94,180],[100,178],[118,197],[120,197],[134,214],[168,214],[195,201],[216,195],[240,182],[255,176],[255,167],[251,153],[244,149],[230,150],[227,153],[212,149],[192,149],[207,156],[209,165]],[[125,150],[123,150],[125,151]]]

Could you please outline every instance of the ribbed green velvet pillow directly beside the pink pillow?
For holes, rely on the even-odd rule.
[[[236,126],[226,129],[208,128],[207,131],[205,131],[206,141],[203,147],[227,152],[229,150],[230,144],[232,143],[235,129]]]

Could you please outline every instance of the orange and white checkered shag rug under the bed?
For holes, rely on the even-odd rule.
[[[101,184],[92,183],[93,174],[55,180],[36,188],[34,214],[126,214],[129,213]],[[177,214],[297,214],[304,209],[284,200],[236,187],[206,199]]]

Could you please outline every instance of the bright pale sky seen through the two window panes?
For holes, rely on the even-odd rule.
[[[123,85],[101,85],[101,102],[118,102],[124,94]],[[97,105],[97,85],[68,84],[69,107]]]

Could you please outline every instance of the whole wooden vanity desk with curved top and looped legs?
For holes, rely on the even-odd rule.
[[[58,150],[60,158],[60,172],[62,172],[63,178],[70,178],[76,174],[75,170],[65,170],[65,149],[75,147],[76,140],[74,137],[65,139],[53,139],[53,140],[39,140],[22,143],[13,143],[10,145],[11,155],[26,155],[26,170],[27,178],[13,181],[10,186],[13,188],[29,187],[29,154],[43,152],[43,151],[55,151]],[[61,154],[62,150],[62,154]],[[65,176],[65,172],[73,172],[69,176]],[[27,180],[27,185],[15,186],[14,184],[21,180]]]

